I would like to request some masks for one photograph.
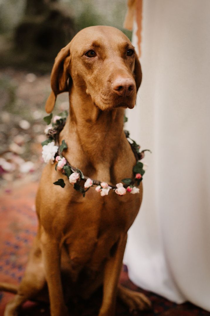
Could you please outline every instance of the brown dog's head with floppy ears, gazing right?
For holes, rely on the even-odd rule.
[[[46,112],[53,110],[57,94],[71,88],[90,95],[101,110],[133,108],[141,77],[138,56],[125,34],[115,27],[87,27],[55,59]]]

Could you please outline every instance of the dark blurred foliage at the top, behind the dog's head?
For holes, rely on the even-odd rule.
[[[123,29],[126,0],[0,0],[0,66],[46,72],[82,28]]]

